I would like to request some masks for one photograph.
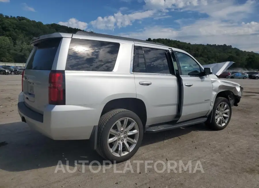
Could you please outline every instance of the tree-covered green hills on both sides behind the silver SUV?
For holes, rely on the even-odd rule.
[[[43,24],[25,17],[4,16],[0,14],[0,62],[26,62],[32,46],[33,37],[54,32],[75,33],[77,28],[58,24]],[[183,49],[193,55],[201,64],[233,61],[231,67],[258,69],[259,54],[241,51],[228,45],[190,44],[170,39],[151,39],[170,47]]]

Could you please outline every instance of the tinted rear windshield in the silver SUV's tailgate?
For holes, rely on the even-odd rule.
[[[46,39],[35,44],[26,69],[51,70],[61,38]]]

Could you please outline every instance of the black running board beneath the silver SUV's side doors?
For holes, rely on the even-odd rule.
[[[174,129],[174,128],[203,123],[206,120],[207,120],[207,118],[198,118],[198,119],[180,122],[180,123],[176,123],[176,124],[155,125],[155,126],[151,126],[151,127],[146,127],[146,132],[147,133],[157,133],[160,131],[167,131],[167,130]]]

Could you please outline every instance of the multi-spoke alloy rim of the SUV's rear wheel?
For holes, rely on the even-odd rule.
[[[113,124],[108,133],[108,149],[114,156],[125,156],[135,148],[138,137],[136,121],[132,118],[121,118]]]

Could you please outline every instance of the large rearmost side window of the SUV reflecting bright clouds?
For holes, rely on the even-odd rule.
[[[65,70],[113,71],[120,44],[71,39]]]

